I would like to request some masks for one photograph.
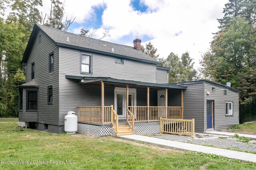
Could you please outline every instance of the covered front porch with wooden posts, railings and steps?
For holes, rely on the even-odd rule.
[[[78,106],[81,123],[110,125],[118,134],[120,127],[123,131],[128,130],[124,126],[129,127],[131,133],[136,124],[159,126],[160,117],[183,119],[184,86],[92,77],[80,81],[80,86],[94,86],[101,93],[101,105]]]

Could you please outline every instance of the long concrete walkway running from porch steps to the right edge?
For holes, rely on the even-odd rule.
[[[247,162],[247,161],[256,162],[256,154],[251,154],[251,153],[238,152],[238,151],[226,150],[226,149],[218,149],[218,148],[212,148],[212,147],[205,147],[205,146],[201,146],[201,145],[169,141],[166,139],[158,139],[158,138],[154,138],[154,137],[146,137],[146,136],[141,136],[141,135],[122,135],[122,136],[118,136],[118,137],[123,138],[123,139],[129,139],[132,141],[150,143],[153,145],[158,145],[161,147],[168,147],[168,148],[172,148],[172,149],[185,150],[185,151],[196,151],[196,152],[202,152],[202,153],[208,153],[208,154],[216,154],[216,155],[221,155],[221,156],[231,158],[231,159],[241,160],[243,162]]]

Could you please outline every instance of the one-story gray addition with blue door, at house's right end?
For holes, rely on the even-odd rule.
[[[239,124],[239,90],[209,80],[177,85],[187,87],[184,119],[195,119],[195,131],[217,131]]]

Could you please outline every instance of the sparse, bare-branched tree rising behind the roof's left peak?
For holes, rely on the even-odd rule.
[[[45,16],[43,17],[43,14],[41,12],[41,19],[42,19],[43,25],[60,29],[62,31],[68,31],[68,28],[74,22],[76,17],[71,16],[70,19],[66,17],[65,21],[63,21],[64,3],[60,2],[59,0],[51,0],[51,2],[52,3],[50,8],[50,14],[49,15],[45,14]]]

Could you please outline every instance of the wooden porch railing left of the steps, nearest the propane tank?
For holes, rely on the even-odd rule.
[[[103,121],[102,121],[103,119]],[[101,106],[78,107],[78,121],[88,123],[111,123],[111,106],[104,106],[104,116],[102,118]]]

